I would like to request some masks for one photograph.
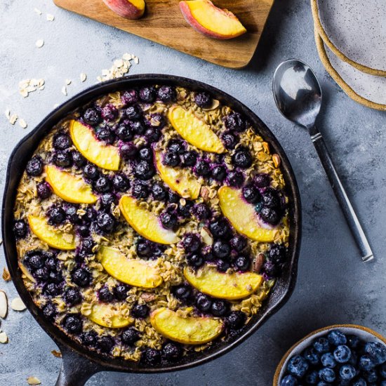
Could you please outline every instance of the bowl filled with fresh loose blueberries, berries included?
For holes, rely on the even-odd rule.
[[[314,331],[281,359],[273,386],[386,386],[386,338],[339,324]]]

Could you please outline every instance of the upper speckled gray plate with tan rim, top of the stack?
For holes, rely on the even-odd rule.
[[[385,0],[312,0],[315,27],[341,60],[386,76]]]

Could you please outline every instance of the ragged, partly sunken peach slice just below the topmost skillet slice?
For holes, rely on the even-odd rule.
[[[197,178],[189,177],[182,169],[162,164],[161,152],[154,152],[154,156],[159,176],[168,187],[185,199],[197,199],[199,197],[201,182]]]

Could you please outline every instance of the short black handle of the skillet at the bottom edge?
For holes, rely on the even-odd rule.
[[[84,386],[91,376],[104,370],[67,347],[60,345],[60,352],[62,366],[55,386]]]

